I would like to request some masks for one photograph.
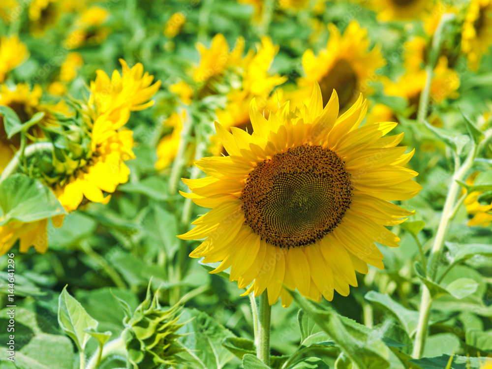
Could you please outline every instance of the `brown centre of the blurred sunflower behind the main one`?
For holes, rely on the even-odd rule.
[[[319,81],[319,87],[323,96],[323,106],[330,100],[330,96],[335,89],[338,94],[340,108],[343,108],[354,95],[354,90],[357,87],[357,75],[349,62],[340,59]]]

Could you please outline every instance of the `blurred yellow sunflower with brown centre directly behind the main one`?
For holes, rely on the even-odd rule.
[[[340,35],[334,24],[328,26],[330,38],[326,49],[317,57],[308,49],[302,58],[306,77],[298,80],[302,87],[294,100],[307,102],[311,92],[312,80],[318,82],[326,104],[332,90],[339,95],[340,110],[353,103],[358,93],[371,92],[369,84],[378,79],[376,70],[386,64],[380,48],[369,50],[367,30],[361,28],[356,21],[350,22],[347,29]]]

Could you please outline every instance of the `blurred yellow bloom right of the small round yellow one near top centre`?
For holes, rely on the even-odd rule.
[[[196,48],[200,54],[200,64],[193,71],[195,82],[204,83],[211,78],[220,76],[228,66],[238,64],[243,56],[244,46],[244,38],[239,37],[236,46],[229,52],[229,44],[221,33],[217,33],[212,38],[210,49],[198,42]]]

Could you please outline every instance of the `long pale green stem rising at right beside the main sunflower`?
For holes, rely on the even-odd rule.
[[[444,246],[445,236],[451,221],[456,215],[456,199],[460,191],[460,184],[457,181],[462,181],[472,167],[475,155],[477,153],[477,146],[473,145],[472,150],[466,157],[463,164],[455,171],[451,179],[451,184],[449,186],[448,195],[446,197],[446,202],[444,203],[444,208],[442,209],[441,220],[439,226],[437,227],[437,232],[435,234],[434,243],[432,244],[431,254],[429,256],[429,261],[427,263],[427,277],[431,281],[435,281],[437,275],[437,269],[441,265],[442,249]],[[424,351],[424,345],[427,338],[427,328],[429,326],[429,314],[431,312],[432,298],[429,289],[422,285],[422,299],[420,302],[420,314],[419,321],[417,324],[417,331],[415,335],[415,344],[413,346],[412,356],[415,359],[419,359]]]

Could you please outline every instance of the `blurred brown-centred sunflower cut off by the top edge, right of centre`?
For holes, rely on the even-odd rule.
[[[377,19],[405,21],[419,19],[431,1],[427,0],[370,0],[369,6],[377,12]]]

